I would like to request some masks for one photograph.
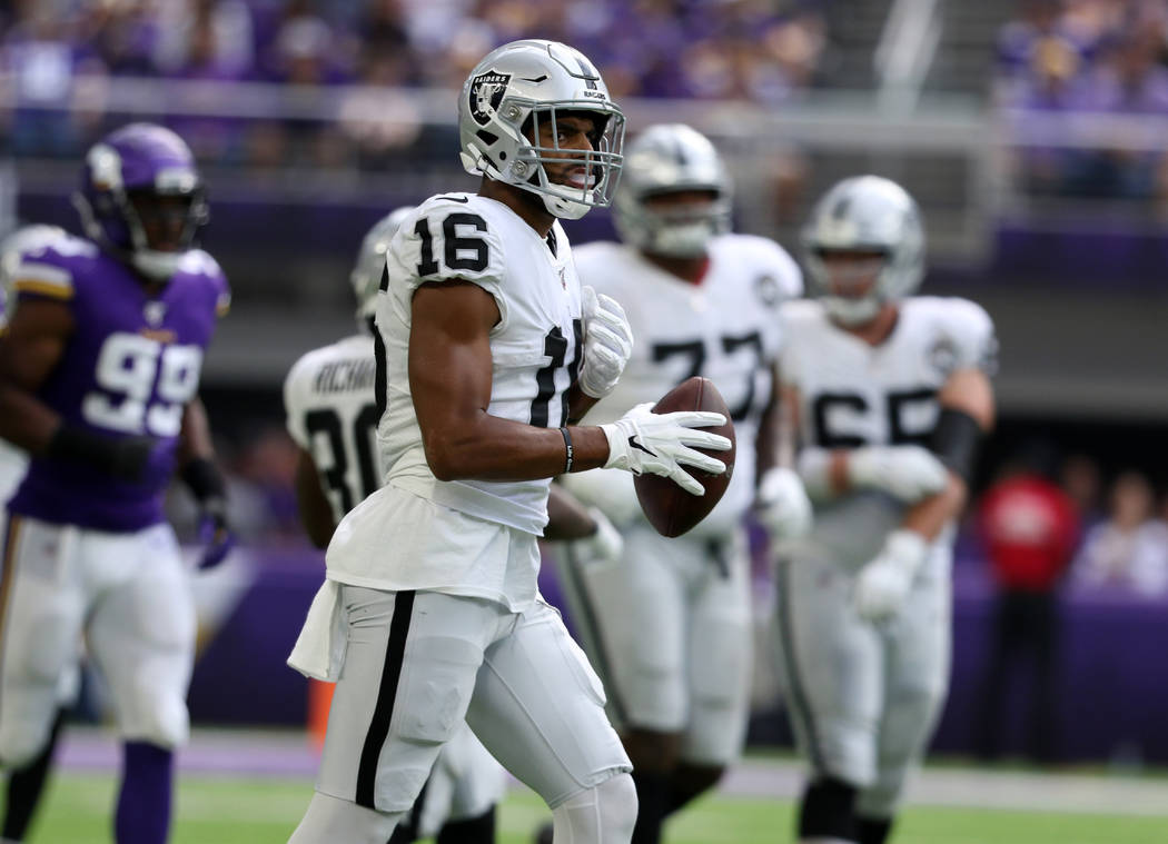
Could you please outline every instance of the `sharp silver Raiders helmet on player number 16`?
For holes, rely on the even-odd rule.
[[[590,152],[561,151],[555,141],[538,144],[543,121],[551,121],[555,139],[557,116],[582,111],[596,117]],[[487,54],[463,85],[458,127],[467,173],[538,194],[549,214],[579,219],[589,209],[612,202],[625,116],[599,71],[566,44],[513,41]],[[575,183],[551,181],[545,166],[563,165],[573,153],[583,167]]]

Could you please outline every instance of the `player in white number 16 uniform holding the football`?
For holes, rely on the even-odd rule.
[[[673,477],[725,465],[718,413],[575,424],[632,346],[620,307],[582,293],[558,217],[611,201],[624,117],[578,51],[519,41],[459,99],[478,194],[402,223],[377,297],[383,486],[338,525],[290,662],[336,677],[317,791],[293,844],[384,844],[463,719],[552,808],[563,840],[626,844],[637,796],[604,690],[540,600],[554,475]],[[695,489],[696,487],[696,489]],[[343,667],[343,670],[341,670]]]

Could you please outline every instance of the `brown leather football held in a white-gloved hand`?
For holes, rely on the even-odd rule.
[[[702,428],[722,434],[730,440],[730,451],[712,452],[700,449],[704,454],[710,454],[726,465],[725,474],[710,475],[705,472],[687,467],[687,472],[696,477],[705,489],[705,495],[690,495],[668,477],[660,475],[640,475],[633,480],[637,487],[637,500],[648,518],[661,536],[681,536],[694,525],[705,518],[722,500],[722,495],[730,486],[730,476],[734,474],[734,460],[737,446],[734,438],[734,423],[730,421],[730,410],[726,407],[722,393],[714,386],[709,378],[694,376],[681,382],[673,390],[661,397],[661,400],[653,407],[654,413],[673,413],[674,411],[703,410],[721,413],[726,418],[724,425],[719,427]]]

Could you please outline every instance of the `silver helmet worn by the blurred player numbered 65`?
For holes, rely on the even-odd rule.
[[[828,190],[802,230],[812,292],[843,325],[871,320],[888,301],[911,295],[925,271],[925,233],[917,203],[894,181],[853,176]],[[876,283],[863,295],[840,295],[823,261],[828,252],[878,253]]]

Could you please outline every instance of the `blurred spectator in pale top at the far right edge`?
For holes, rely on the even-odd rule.
[[[1138,472],[1125,472],[1111,491],[1111,511],[1087,532],[1075,576],[1083,584],[1141,594],[1168,588],[1168,525],[1153,519],[1153,491]]]

